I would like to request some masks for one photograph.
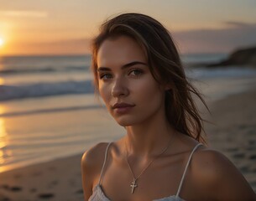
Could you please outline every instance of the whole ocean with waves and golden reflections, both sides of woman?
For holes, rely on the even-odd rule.
[[[248,89],[256,77],[248,67],[196,66],[225,58],[181,56],[186,75],[208,100]],[[91,55],[0,57],[0,173],[123,135],[95,98],[90,64]]]

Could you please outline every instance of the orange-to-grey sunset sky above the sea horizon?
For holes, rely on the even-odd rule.
[[[90,54],[100,24],[118,13],[163,23],[181,54],[256,46],[255,0],[0,0],[0,56]]]

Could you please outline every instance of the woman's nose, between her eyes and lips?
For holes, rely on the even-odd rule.
[[[112,84],[111,93],[113,97],[127,96],[129,94],[129,90],[125,80],[121,78],[115,79]]]

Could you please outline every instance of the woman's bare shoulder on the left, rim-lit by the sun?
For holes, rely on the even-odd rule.
[[[105,142],[98,143],[81,157],[82,184],[86,200],[90,198],[93,183],[96,183],[99,173],[101,173],[107,144]]]

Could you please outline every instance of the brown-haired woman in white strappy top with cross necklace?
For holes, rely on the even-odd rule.
[[[255,199],[237,168],[201,144],[191,97],[201,95],[161,23],[121,14],[102,24],[92,48],[96,89],[126,135],[82,157],[86,200]]]

